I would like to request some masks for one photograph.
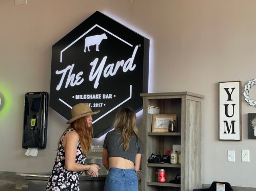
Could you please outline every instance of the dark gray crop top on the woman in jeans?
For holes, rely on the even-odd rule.
[[[117,134],[117,133],[119,133],[119,134]],[[119,138],[120,138],[120,140],[119,140]],[[124,151],[123,145],[121,146],[121,144],[123,143],[122,138],[121,138],[121,131],[113,130],[113,131],[110,131],[107,133],[105,140],[104,140],[103,148],[108,150],[108,158],[109,157],[122,157],[122,158],[132,161],[135,165],[136,154],[142,153],[142,141],[139,138],[136,148],[135,148],[136,140],[137,140],[136,136],[134,135],[129,142],[130,151]]]

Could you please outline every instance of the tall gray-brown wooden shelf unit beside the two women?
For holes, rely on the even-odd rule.
[[[143,153],[141,190],[190,191],[202,185],[201,121],[204,96],[191,92],[142,93]],[[148,106],[160,108],[160,114],[177,114],[176,133],[152,133],[152,114]],[[172,145],[181,145],[181,164],[147,163],[151,154],[166,154]],[[157,169],[165,169],[166,182],[157,182]],[[171,184],[181,173],[181,184]]]

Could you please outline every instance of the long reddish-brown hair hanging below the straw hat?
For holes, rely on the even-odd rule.
[[[86,116],[85,116],[85,117],[78,118],[77,120],[72,122],[70,124],[70,126],[67,127],[66,130],[68,130],[70,128],[73,128],[79,136],[79,139],[81,142],[82,153],[84,155],[88,154],[89,151],[91,150],[91,142],[92,142],[91,135],[93,134],[92,124],[91,124],[91,127],[88,127],[88,124],[86,121]],[[65,132],[66,132],[66,130],[65,130]],[[63,134],[62,134],[62,136],[63,136]],[[62,138],[62,136],[61,136],[61,138]],[[60,138],[60,140],[58,140],[58,146],[61,143],[61,138]]]

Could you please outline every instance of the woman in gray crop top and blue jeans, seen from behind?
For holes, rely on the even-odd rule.
[[[138,190],[142,142],[132,109],[123,108],[116,114],[114,130],[107,133],[103,148],[102,163],[108,170],[104,191]]]

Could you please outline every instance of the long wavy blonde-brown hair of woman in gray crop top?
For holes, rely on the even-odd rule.
[[[131,108],[122,108],[115,116],[114,129],[122,132],[121,139],[125,151],[130,151],[129,142],[133,135],[136,136],[135,148],[139,142],[139,131],[136,127],[136,115]],[[121,147],[120,146],[120,147]]]

